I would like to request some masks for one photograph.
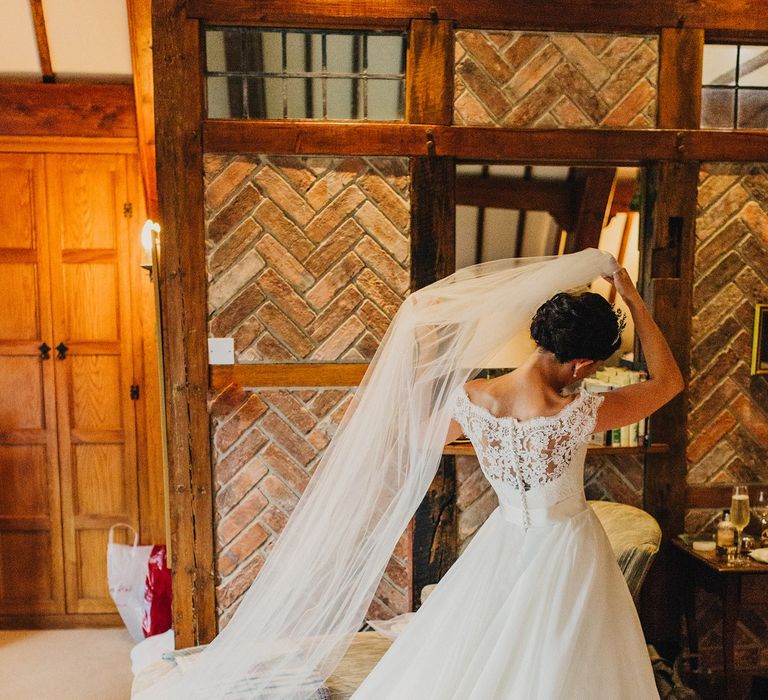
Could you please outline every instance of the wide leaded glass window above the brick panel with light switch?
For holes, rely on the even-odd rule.
[[[402,32],[208,27],[205,53],[209,118],[403,119]]]

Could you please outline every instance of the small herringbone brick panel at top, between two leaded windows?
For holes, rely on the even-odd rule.
[[[655,36],[456,32],[454,123],[656,125]]]

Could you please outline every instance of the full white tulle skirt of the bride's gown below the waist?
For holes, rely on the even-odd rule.
[[[658,698],[597,516],[524,531],[496,509],[354,700]]]

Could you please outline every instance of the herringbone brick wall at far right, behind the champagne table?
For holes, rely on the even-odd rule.
[[[766,482],[768,382],[750,377],[749,362],[754,305],[768,300],[768,166],[704,164],[699,180],[688,483]],[[712,532],[719,513],[689,511],[686,531]],[[719,604],[701,601],[701,651],[705,663],[718,667]],[[736,661],[768,666],[764,611],[742,617]]]

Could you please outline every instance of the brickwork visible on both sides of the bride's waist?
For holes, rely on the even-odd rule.
[[[643,501],[643,461],[634,455],[589,455],[584,464],[587,498],[640,507]],[[459,549],[486,521],[498,500],[474,457],[456,458],[456,505]]]

